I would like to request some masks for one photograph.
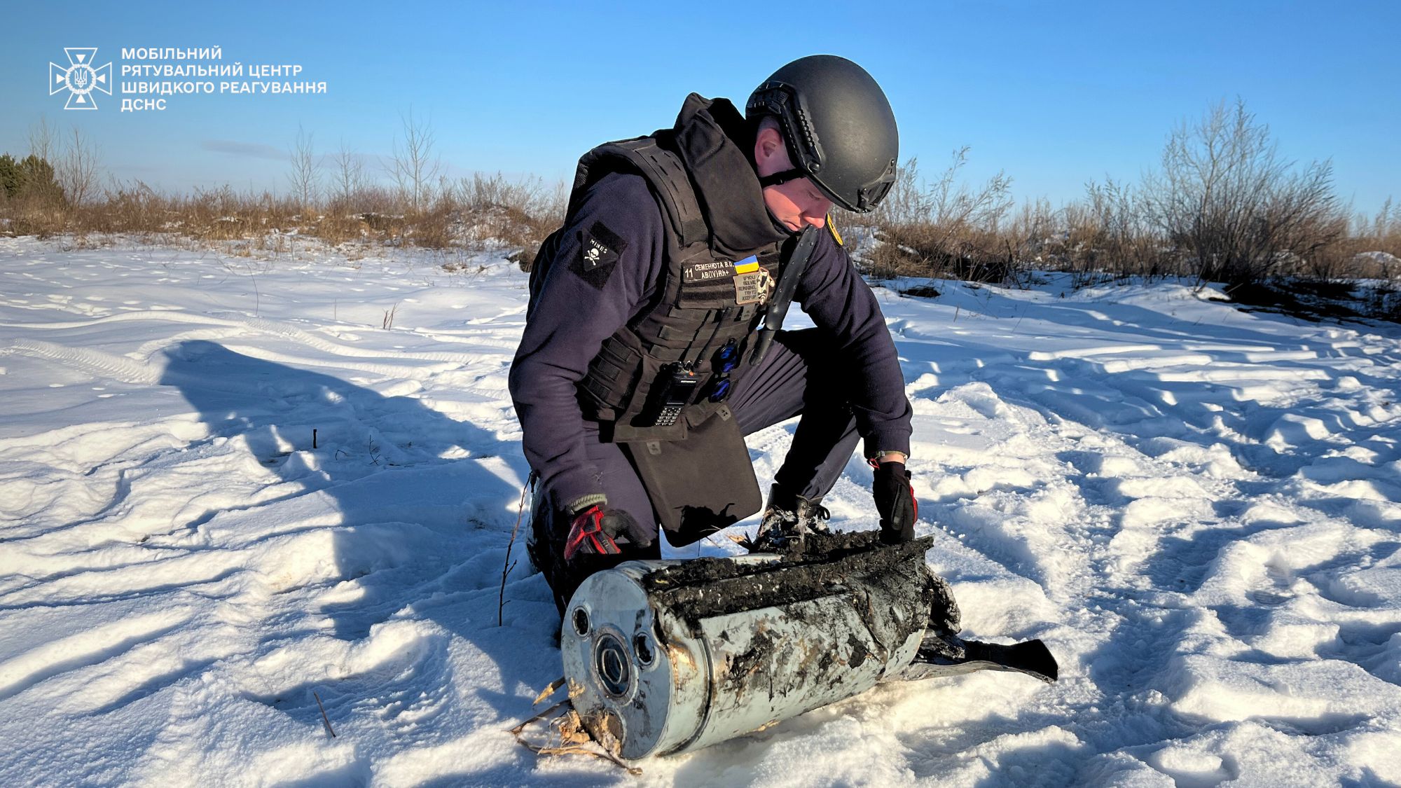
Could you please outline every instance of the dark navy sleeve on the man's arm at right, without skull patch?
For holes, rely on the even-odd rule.
[[[866,456],[909,454],[913,408],[905,397],[905,373],[885,315],[846,250],[827,230],[818,237],[794,297],[813,322],[834,337],[834,351],[850,370],[852,411],[856,430],[866,439]]]

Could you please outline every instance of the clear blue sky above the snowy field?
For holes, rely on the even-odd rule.
[[[933,175],[969,146],[969,179],[1005,170],[1019,199],[1075,199],[1136,178],[1171,126],[1244,98],[1290,158],[1332,158],[1359,210],[1401,198],[1401,1],[1338,3],[335,3],[21,0],[3,11],[0,150],[43,115],[78,126],[108,171],[184,191],[286,191],[298,125],[322,150],[387,154],[410,108],[451,174],[572,174],[604,140],[670,126],[689,91],[743,102],[778,66],[863,64]],[[18,34],[18,35],[15,35]],[[298,63],[326,95],[179,95],[164,112],[63,111],[64,46],[220,46],[223,62]],[[116,79],[120,79],[116,74]],[[217,80],[216,80],[217,81]],[[104,101],[105,98],[105,101]]]

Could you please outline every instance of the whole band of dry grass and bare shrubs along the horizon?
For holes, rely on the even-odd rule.
[[[56,178],[10,196],[0,189],[0,233],[69,236],[78,245],[126,236],[280,255],[315,238],[350,259],[381,247],[436,250],[457,268],[469,268],[464,259],[472,252],[504,250],[530,269],[567,202],[565,184],[539,178],[436,177],[432,128],[412,115],[396,157],[388,167],[381,161],[388,182],[375,182],[366,158],[342,146],[328,184],[311,135],[298,133],[289,177],[294,198],[227,185],[170,195],[140,181],[98,189],[94,150],[77,133],[67,147],[42,123],[31,137],[41,160],[57,157]],[[1160,170],[1139,182],[1091,182],[1084,198],[1061,208],[1016,205],[1005,172],[964,182],[967,158],[968,149],[954,151],[933,179],[909,160],[877,212],[842,220],[880,241],[860,252],[867,273],[1017,282],[1030,269],[1051,269],[1080,285],[1178,276],[1233,287],[1365,279],[1374,280],[1366,290],[1377,303],[1372,311],[1395,310],[1401,210],[1387,203],[1376,216],[1349,220],[1328,163],[1282,161],[1240,102],[1174,129]]]

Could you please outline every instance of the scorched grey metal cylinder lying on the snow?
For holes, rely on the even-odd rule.
[[[927,540],[869,541],[590,576],[560,635],[574,709],[595,740],[637,760],[761,731],[898,673],[929,617]]]

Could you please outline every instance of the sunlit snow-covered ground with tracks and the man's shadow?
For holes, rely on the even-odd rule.
[[[562,672],[520,545],[497,625],[525,275],[440,262],[0,240],[0,782],[1401,784],[1395,327],[877,289],[929,562],[1061,681],[885,684],[628,777],[507,732]]]

